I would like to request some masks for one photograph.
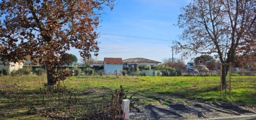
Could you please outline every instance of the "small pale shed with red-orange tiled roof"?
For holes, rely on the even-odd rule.
[[[118,74],[121,74],[121,70],[123,70],[123,61],[122,58],[104,58],[104,73],[105,75],[114,75],[115,70],[117,70]]]

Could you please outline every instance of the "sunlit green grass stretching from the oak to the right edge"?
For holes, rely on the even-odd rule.
[[[64,84],[69,88],[87,87],[118,89],[120,85],[125,92],[132,94],[181,94],[191,98],[206,101],[232,101],[247,104],[256,104],[256,76],[232,76],[231,77],[231,100],[221,98],[218,76],[78,76],[71,77]],[[228,80],[228,77],[227,77]],[[224,95],[224,90],[222,90]],[[229,94],[229,89],[227,89]]]

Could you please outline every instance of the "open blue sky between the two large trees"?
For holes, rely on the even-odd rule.
[[[172,57],[172,40],[182,33],[177,23],[180,7],[189,0],[116,0],[113,11],[105,9],[97,32],[99,56],[121,57],[122,59],[144,57],[162,62]],[[80,60],[78,50],[71,49]],[[179,58],[180,55],[174,54]],[[185,60],[188,62],[189,60]]]

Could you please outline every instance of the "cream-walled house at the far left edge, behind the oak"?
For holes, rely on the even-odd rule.
[[[2,63],[2,62],[0,62]],[[10,74],[13,70],[18,70],[23,68],[23,62],[7,62],[6,65],[0,64],[0,70],[7,69],[8,74]]]

